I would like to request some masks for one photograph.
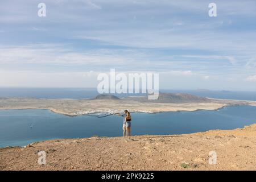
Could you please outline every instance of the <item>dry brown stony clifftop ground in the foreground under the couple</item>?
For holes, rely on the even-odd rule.
[[[122,131],[120,131],[122,132]],[[46,165],[38,152],[46,151]],[[209,164],[209,152],[217,164]],[[187,135],[48,140],[0,149],[1,170],[256,170],[256,124]]]

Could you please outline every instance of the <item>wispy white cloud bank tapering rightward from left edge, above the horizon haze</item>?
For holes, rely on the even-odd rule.
[[[76,52],[54,45],[0,47],[0,64],[114,65],[125,64],[127,61],[125,56]]]

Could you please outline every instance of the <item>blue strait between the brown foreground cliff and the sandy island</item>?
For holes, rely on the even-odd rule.
[[[187,134],[235,129],[256,123],[256,107],[230,106],[218,111],[132,113],[133,135]],[[59,138],[122,136],[122,117],[68,117],[49,110],[0,110],[0,147]]]

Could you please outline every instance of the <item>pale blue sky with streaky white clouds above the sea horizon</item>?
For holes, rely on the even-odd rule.
[[[254,0],[1,0],[0,87],[96,88],[115,69],[159,73],[160,89],[256,91],[255,30]]]

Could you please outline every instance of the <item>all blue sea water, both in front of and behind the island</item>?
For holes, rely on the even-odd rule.
[[[256,92],[208,90],[160,90],[196,96],[256,101]],[[82,88],[0,88],[0,97],[93,98],[96,89]],[[140,94],[130,94],[130,96]],[[125,97],[125,94],[115,94]],[[255,106],[229,106],[218,111],[132,113],[133,135],[187,134],[213,129],[235,129],[256,123]],[[122,118],[110,115],[68,117],[49,110],[0,110],[0,147],[25,146],[47,139],[122,136]]]

